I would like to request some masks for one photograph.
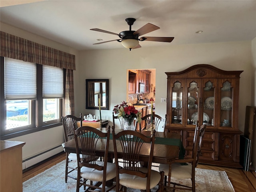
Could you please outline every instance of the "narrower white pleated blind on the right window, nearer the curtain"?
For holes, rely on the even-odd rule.
[[[63,97],[63,69],[43,65],[43,98]]]

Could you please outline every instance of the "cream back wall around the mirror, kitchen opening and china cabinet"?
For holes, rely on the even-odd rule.
[[[113,42],[117,43],[117,42]],[[129,51],[126,48],[113,50],[89,50],[80,52],[80,106],[77,112],[99,115],[98,110],[85,110],[85,79],[110,79],[110,110],[102,110],[102,118],[111,121],[112,109],[126,99],[127,69],[156,69],[156,114],[166,114],[167,96],[165,72],[181,71],[195,64],[210,64],[222,70],[244,70],[240,78],[239,129],[244,130],[246,105],[251,104],[251,42],[223,42],[212,44],[189,44],[162,47],[142,47]],[[76,112],[76,113],[77,113]]]

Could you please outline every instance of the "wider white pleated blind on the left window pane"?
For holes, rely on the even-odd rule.
[[[36,99],[35,63],[5,58],[4,74],[6,99]]]

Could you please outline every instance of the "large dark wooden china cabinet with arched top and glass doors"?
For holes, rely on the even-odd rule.
[[[243,71],[224,71],[198,64],[167,74],[168,132],[178,132],[192,152],[197,120],[206,124],[199,162],[220,166],[239,164],[239,79]]]

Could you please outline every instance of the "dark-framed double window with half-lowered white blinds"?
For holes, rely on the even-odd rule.
[[[4,57],[0,69],[1,139],[61,122],[63,69]]]

